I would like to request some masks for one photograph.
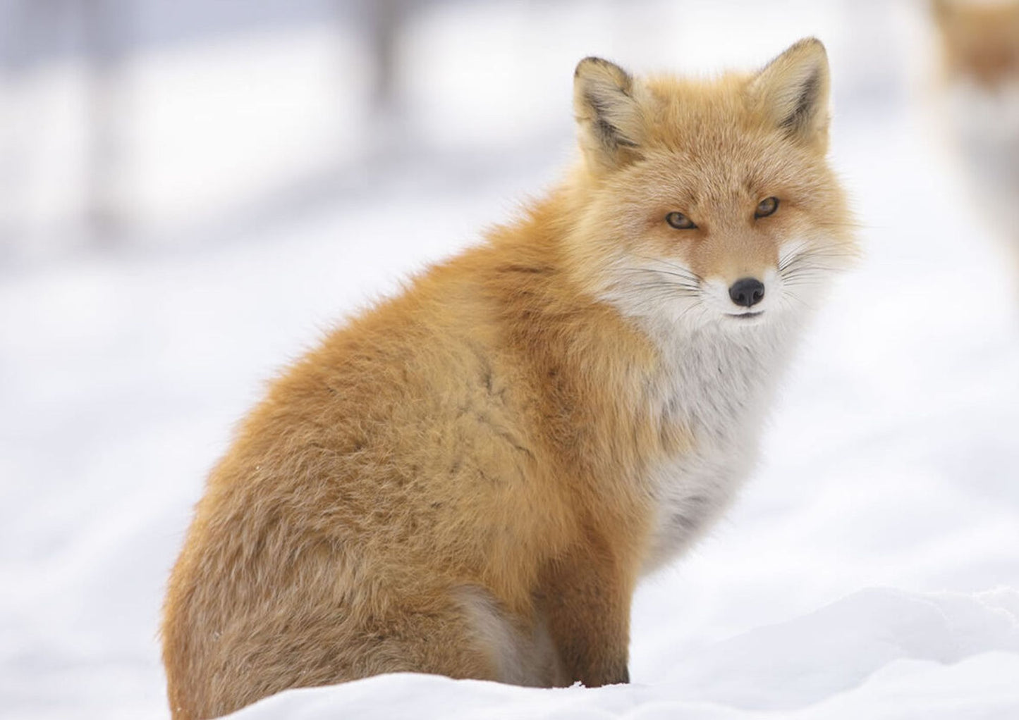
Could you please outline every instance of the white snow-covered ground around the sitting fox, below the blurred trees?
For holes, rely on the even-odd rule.
[[[866,258],[739,505],[640,589],[633,684],[390,675],[233,717],[1019,717],[1015,289],[915,109],[841,110]],[[470,183],[409,166],[229,242],[0,271],[0,717],[167,717],[163,584],[231,424],[321,329],[473,241],[562,155]]]

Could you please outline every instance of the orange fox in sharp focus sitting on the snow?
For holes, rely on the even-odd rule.
[[[418,672],[629,682],[641,577],[731,504],[857,255],[829,69],[574,73],[562,179],[272,382],[212,469],[161,636],[174,720]]]

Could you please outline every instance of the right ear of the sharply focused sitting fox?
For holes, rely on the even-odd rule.
[[[827,53],[806,38],[769,62],[750,80],[752,107],[793,140],[827,148]]]

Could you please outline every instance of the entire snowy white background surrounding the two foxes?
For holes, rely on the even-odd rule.
[[[866,257],[738,506],[641,587],[633,684],[393,675],[236,717],[1019,717],[1019,302],[923,4],[383,6],[0,0],[0,717],[168,717],[163,586],[232,424],[555,181],[579,58],[753,67],[804,35]]]

